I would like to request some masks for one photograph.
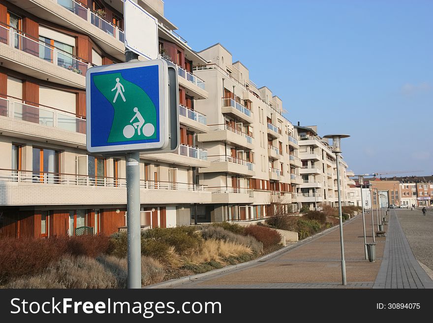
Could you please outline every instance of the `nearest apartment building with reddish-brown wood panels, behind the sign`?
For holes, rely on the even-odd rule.
[[[143,227],[189,225],[194,204],[212,202],[198,183],[209,167],[194,110],[208,97],[193,67],[206,63],[163,15],[161,0],[139,1],[158,20],[159,53],[179,68],[178,153],[142,155]],[[124,156],[86,150],[85,74],[124,58],[122,0],[0,0],[0,234],[111,234],[125,225]],[[143,58],[139,58],[143,59]]]

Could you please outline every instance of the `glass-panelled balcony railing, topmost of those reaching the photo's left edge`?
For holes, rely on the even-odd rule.
[[[85,75],[87,69],[92,66],[91,63],[77,59],[72,54],[47,46],[48,44],[40,40],[31,39],[20,30],[0,26],[0,34],[0,42],[77,74]]]

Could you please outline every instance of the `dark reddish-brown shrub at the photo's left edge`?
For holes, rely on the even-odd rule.
[[[0,283],[41,272],[67,250],[68,238],[1,238]]]

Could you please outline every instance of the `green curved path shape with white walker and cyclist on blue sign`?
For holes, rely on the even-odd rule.
[[[94,75],[93,82],[114,109],[108,143],[157,137],[156,108],[142,88],[121,73]]]

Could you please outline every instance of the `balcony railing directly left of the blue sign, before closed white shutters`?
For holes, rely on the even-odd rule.
[[[66,111],[39,105],[26,104],[15,98],[0,98],[0,116],[29,121],[62,130],[86,133],[86,119]]]

